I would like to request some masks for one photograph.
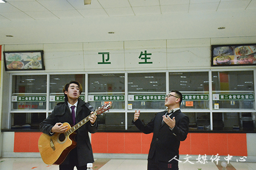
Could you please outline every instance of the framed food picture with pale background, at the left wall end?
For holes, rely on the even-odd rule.
[[[5,70],[44,70],[43,51],[3,52]]]

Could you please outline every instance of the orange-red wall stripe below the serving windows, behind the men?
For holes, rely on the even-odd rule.
[[[41,132],[15,132],[14,152],[39,152]],[[92,134],[94,153],[148,154],[153,134],[108,133]],[[188,133],[181,141],[181,155],[247,156],[246,133]]]

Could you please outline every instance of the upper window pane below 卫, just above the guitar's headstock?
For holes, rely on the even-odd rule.
[[[111,109],[124,109],[124,74],[88,75],[88,102],[94,108],[113,102]]]

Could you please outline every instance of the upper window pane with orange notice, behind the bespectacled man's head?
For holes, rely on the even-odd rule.
[[[169,90],[183,95],[181,108],[209,109],[208,72],[170,72]]]

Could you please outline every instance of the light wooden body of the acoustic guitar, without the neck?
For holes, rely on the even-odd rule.
[[[69,123],[63,123],[63,126],[66,125],[69,130],[71,126]],[[52,136],[41,134],[38,140],[38,149],[42,160],[49,165],[61,164],[69,152],[76,147],[75,135],[75,133],[71,133],[65,137],[64,133],[54,133]]]

